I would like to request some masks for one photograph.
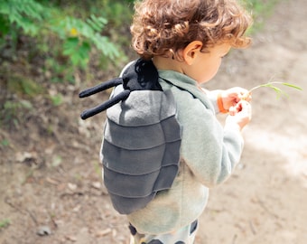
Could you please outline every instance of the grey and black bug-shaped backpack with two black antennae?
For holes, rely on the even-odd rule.
[[[85,98],[115,87],[110,99],[82,112],[107,109],[101,155],[104,183],[116,211],[129,214],[170,189],[178,174],[181,127],[172,92],[163,90],[152,61],[139,59],[120,78],[80,92]]]

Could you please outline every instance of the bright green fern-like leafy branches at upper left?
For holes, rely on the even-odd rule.
[[[86,68],[91,47],[109,59],[119,56],[116,45],[100,34],[107,19],[94,14],[82,20],[34,0],[5,0],[0,2],[0,23],[3,38],[9,34],[14,46],[20,30],[35,38],[56,36],[62,41],[62,54],[69,57],[74,67]]]

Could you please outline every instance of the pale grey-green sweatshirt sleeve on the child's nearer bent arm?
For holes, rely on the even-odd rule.
[[[173,92],[180,111],[181,156],[200,183],[207,187],[223,183],[242,154],[244,142],[239,129],[222,127],[214,112],[190,92],[178,89]]]

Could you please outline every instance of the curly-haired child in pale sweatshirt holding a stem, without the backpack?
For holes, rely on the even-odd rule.
[[[136,1],[133,47],[143,60],[154,62],[159,84],[172,93],[181,147],[172,187],[127,214],[131,243],[193,243],[209,188],[225,182],[238,163],[240,131],[251,119],[247,90],[209,92],[200,85],[215,76],[231,47],[247,47],[244,33],[250,24],[235,0]],[[216,112],[229,113],[225,127]]]

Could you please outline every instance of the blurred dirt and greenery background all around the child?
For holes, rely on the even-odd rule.
[[[109,91],[130,48],[132,0],[0,1],[0,243],[128,243],[98,153],[105,113],[79,114]],[[196,244],[293,244],[307,239],[307,4],[244,0],[253,44],[233,50],[207,89],[269,81],[253,92],[253,120],[233,177],[212,189]],[[221,123],[225,116],[219,116]]]

